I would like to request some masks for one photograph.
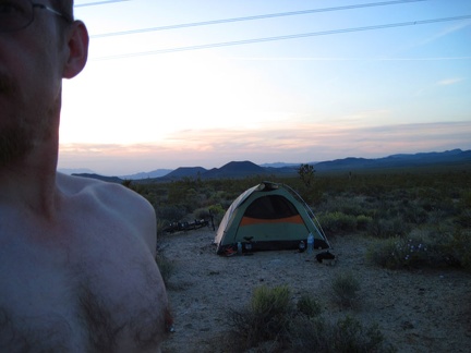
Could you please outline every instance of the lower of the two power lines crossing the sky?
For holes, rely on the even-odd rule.
[[[202,50],[202,49],[241,46],[241,45],[249,45],[249,44],[264,42],[264,41],[278,41],[278,40],[288,40],[288,39],[297,39],[297,38],[306,38],[306,37],[315,37],[315,36],[327,36],[327,35],[335,35],[335,34],[352,33],[352,32],[365,32],[365,31],[396,28],[396,27],[406,27],[406,26],[414,26],[414,25],[425,25],[425,24],[431,24],[431,23],[460,21],[460,20],[469,20],[469,19],[471,19],[471,15],[455,16],[455,17],[442,17],[442,19],[422,20],[422,21],[410,21],[410,22],[390,23],[390,24],[374,25],[374,26],[351,27],[351,28],[302,33],[302,34],[277,36],[277,37],[254,38],[254,39],[224,41],[224,42],[215,42],[215,44],[198,45],[198,46],[159,49],[159,50],[124,53],[124,54],[117,54],[117,56],[109,56],[109,57],[99,57],[99,58],[95,58],[92,60],[102,61],[102,60],[125,59],[125,58],[133,58],[133,57],[146,57],[146,56],[155,56],[155,54],[162,54],[162,53],[170,53],[170,52],[178,52],[178,51],[190,51],[190,50]]]

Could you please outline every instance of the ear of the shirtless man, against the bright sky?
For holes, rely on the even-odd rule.
[[[84,68],[88,58],[88,32],[82,21],[75,21],[69,29],[65,42],[68,58],[64,63],[62,76],[72,78]]]

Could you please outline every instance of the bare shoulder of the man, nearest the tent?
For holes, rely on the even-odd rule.
[[[93,208],[97,212],[112,214],[120,221],[136,227],[136,234],[147,243],[154,254],[156,215],[154,207],[143,196],[121,184],[89,178],[58,173],[56,181],[64,197],[77,199],[78,205]]]

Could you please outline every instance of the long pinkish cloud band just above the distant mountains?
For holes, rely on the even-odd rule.
[[[152,144],[61,145],[59,165],[122,175],[158,168],[215,168],[231,160],[263,163],[376,158],[398,153],[471,149],[469,136],[471,121],[362,127],[303,123],[268,124],[262,130],[185,130]]]

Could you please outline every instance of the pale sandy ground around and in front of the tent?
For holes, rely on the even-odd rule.
[[[245,305],[262,284],[289,284],[294,296],[317,295],[325,316],[350,314],[365,326],[376,322],[398,352],[471,350],[469,273],[382,269],[365,260],[369,240],[359,235],[329,239],[335,266],[294,251],[221,257],[212,245],[214,236],[205,228],[159,240],[160,251],[176,266],[168,284],[176,331],[164,352],[224,352],[227,309]],[[342,271],[353,271],[361,283],[359,306],[343,312],[329,293],[334,276]]]

